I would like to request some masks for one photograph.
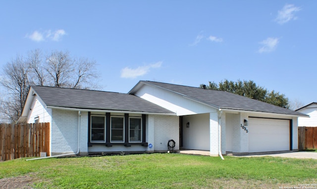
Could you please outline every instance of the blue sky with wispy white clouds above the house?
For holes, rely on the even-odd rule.
[[[316,0],[0,2],[0,68],[36,48],[95,60],[102,90],[254,80],[317,101]]]

